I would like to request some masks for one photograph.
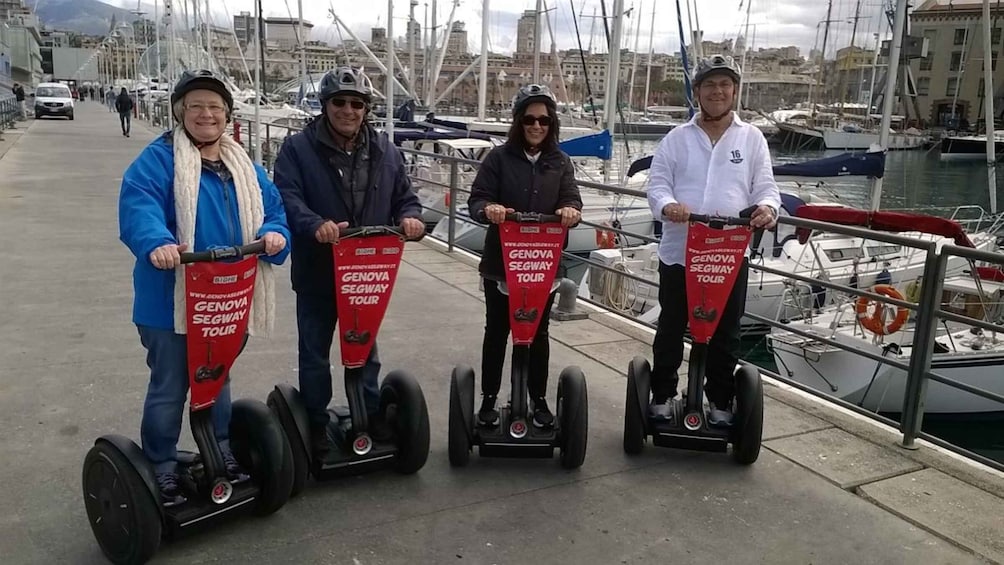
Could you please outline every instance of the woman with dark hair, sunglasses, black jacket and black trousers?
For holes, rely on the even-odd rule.
[[[474,179],[468,207],[472,218],[488,223],[484,253],[478,270],[485,286],[485,338],[481,353],[481,426],[495,426],[495,408],[502,383],[506,341],[509,337],[508,297],[499,292],[505,281],[498,225],[512,212],[556,214],[571,227],[581,217],[582,199],[568,156],[558,149],[558,118],[554,95],[546,86],[523,86],[512,105],[508,142],[485,158]],[[548,428],[554,416],[547,407],[547,360],[550,352],[547,318],[554,295],[547,300],[540,326],[530,346],[527,389],[533,406],[533,425]]]

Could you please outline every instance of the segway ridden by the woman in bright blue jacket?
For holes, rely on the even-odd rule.
[[[178,452],[178,474],[187,501],[165,506],[154,467],[132,440],[102,436],[83,462],[83,502],[90,529],[113,563],[143,563],[162,537],[200,530],[209,519],[238,510],[259,515],[286,503],[293,481],[289,444],[265,404],[247,398],[232,404],[230,447],[249,473],[227,476],[211,416],[216,397],[243,348],[257,275],[258,242],[182,253],[187,294],[189,418],[198,453]],[[231,262],[218,262],[235,260]]]

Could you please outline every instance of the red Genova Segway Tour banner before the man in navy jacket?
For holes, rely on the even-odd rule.
[[[344,238],[331,246],[341,364],[347,368],[369,357],[404,248],[405,240],[394,234]]]

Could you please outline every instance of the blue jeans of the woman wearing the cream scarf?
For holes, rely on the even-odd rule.
[[[178,467],[178,439],[188,398],[188,346],[185,336],[170,329],[138,325],[140,342],[147,348],[150,386],[143,404],[141,438],[143,453],[155,473],[174,472]],[[230,448],[230,377],[216,397],[213,428],[222,449]]]

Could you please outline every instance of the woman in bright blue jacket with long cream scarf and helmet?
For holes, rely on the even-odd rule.
[[[282,199],[265,170],[224,134],[233,96],[211,71],[186,71],[171,95],[177,124],[140,154],[122,177],[119,239],[136,256],[133,322],[147,349],[150,385],[143,451],[166,506],[185,502],[177,447],[188,395],[185,283],[180,253],[263,240],[248,324],[266,335],[274,311],[271,265],[289,254]],[[212,407],[216,440],[232,480],[246,477],[230,450],[230,383]]]

